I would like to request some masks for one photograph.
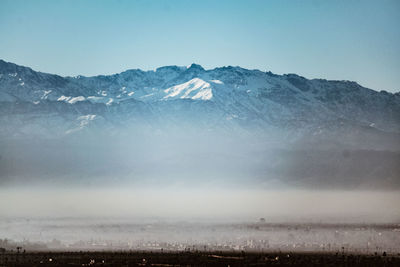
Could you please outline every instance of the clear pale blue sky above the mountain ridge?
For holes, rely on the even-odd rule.
[[[400,1],[0,0],[0,58],[61,75],[239,65],[400,90]]]

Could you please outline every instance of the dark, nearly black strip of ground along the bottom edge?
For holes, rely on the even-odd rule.
[[[399,255],[245,252],[6,252],[0,266],[400,266]]]

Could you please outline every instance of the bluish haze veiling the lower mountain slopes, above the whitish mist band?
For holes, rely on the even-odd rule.
[[[3,139],[0,185],[400,189],[399,151],[309,141],[284,132],[260,136],[185,129]]]

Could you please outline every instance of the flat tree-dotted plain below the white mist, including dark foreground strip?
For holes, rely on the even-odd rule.
[[[9,219],[1,266],[400,266],[399,224]]]

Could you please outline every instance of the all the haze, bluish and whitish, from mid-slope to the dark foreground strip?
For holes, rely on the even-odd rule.
[[[207,129],[2,139],[0,247],[397,252],[399,152],[302,140]]]

